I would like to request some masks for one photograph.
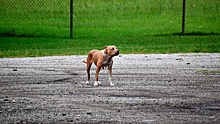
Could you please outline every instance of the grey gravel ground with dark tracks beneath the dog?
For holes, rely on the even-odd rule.
[[[114,87],[85,58],[0,59],[0,123],[220,122],[219,53],[120,55]]]

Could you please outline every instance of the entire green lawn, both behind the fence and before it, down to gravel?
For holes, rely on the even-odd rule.
[[[69,39],[69,0],[1,0],[0,57],[87,54],[108,44],[124,54],[220,52],[220,1],[186,6],[187,36],[179,36],[181,0],[77,0]]]

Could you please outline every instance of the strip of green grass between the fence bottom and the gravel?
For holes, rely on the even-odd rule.
[[[219,36],[148,36],[127,39],[0,37],[0,57],[85,55],[114,44],[122,54],[220,52]]]

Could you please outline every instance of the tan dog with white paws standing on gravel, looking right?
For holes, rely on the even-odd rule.
[[[100,85],[100,81],[98,80],[98,75],[100,69],[104,69],[108,67],[108,72],[109,72],[109,82],[110,86],[114,86],[112,83],[112,65],[113,65],[113,60],[112,58],[114,56],[119,55],[119,50],[116,46],[104,46],[103,50],[91,50],[88,53],[87,59],[83,61],[86,63],[86,71],[88,74],[88,79],[86,81],[86,84],[89,84],[90,81],[90,68],[92,63],[96,65],[96,74],[95,74],[95,83],[94,86]]]

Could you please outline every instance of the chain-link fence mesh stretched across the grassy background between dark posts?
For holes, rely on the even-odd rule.
[[[74,0],[74,38],[181,33],[182,0]],[[186,33],[219,34],[220,1],[186,0]],[[69,37],[70,0],[0,0],[0,34]]]

